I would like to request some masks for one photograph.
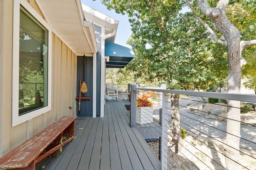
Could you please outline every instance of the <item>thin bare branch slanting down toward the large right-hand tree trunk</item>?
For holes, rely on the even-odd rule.
[[[194,7],[189,3],[188,0],[186,0],[189,8],[192,10],[194,17],[196,18],[196,20],[198,20],[202,25],[204,25],[204,27],[206,27],[206,29],[210,32],[210,34],[212,34],[213,39],[216,43],[220,43],[222,45],[226,45],[227,46],[227,42],[226,41],[221,41],[220,39],[217,38],[217,35],[214,33],[214,31],[209,27],[209,25],[204,22],[201,18],[199,18],[196,14],[196,10],[194,9]],[[207,3],[207,2],[206,2]],[[208,4],[208,3],[207,3]],[[209,5],[209,4],[208,4]],[[209,7],[211,8],[211,7]],[[212,8],[211,8],[212,9]]]

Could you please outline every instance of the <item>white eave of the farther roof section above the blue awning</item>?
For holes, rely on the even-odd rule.
[[[114,18],[107,16],[106,14],[103,14],[102,12],[99,12],[85,4],[82,4],[82,8],[84,11],[85,20],[104,26],[105,35],[112,33],[114,29],[117,30],[118,21],[116,21]],[[116,35],[106,40],[114,42],[115,38]]]

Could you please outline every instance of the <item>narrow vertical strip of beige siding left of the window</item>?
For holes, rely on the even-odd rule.
[[[0,156],[10,148],[12,113],[12,1],[1,0],[0,18]],[[6,128],[8,127],[8,128]]]

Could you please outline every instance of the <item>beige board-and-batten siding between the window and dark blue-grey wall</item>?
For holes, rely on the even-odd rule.
[[[52,33],[52,113],[47,120],[75,114],[75,85],[76,55]]]

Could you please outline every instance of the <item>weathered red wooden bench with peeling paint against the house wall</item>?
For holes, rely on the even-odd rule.
[[[74,139],[75,119],[76,116],[64,116],[52,123],[0,158],[0,168],[35,170],[40,160],[59,156],[62,146]]]

